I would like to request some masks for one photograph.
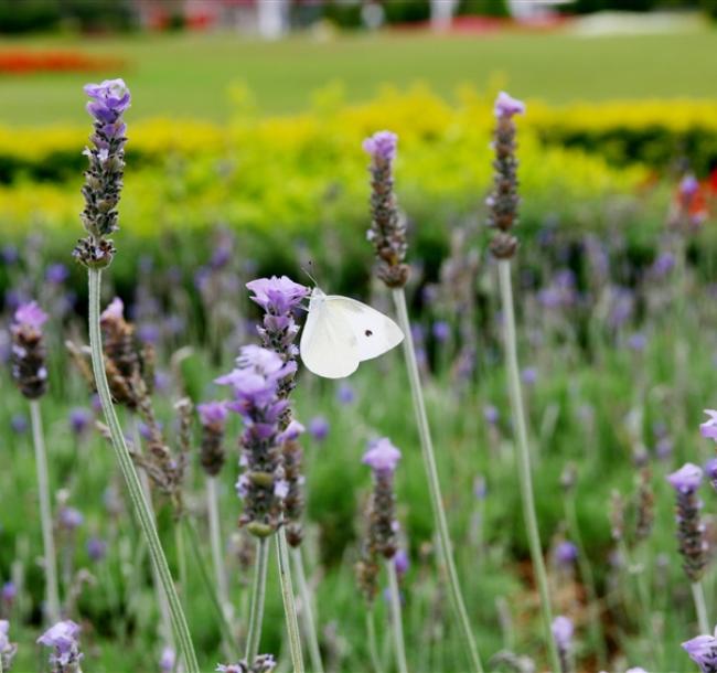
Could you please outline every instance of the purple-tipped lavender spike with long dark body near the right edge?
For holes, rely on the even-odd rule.
[[[702,468],[691,462],[667,477],[676,491],[675,506],[677,540],[683,557],[683,569],[692,583],[698,581],[707,565],[707,542],[705,526],[699,516],[702,501],[697,489],[702,483]]]

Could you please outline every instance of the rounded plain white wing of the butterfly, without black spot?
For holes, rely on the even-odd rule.
[[[342,312],[329,310],[325,295],[315,290],[309,303],[299,352],[306,367],[324,378],[349,376],[361,362],[358,343],[351,324]]]

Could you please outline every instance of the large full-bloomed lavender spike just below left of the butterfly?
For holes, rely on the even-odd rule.
[[[281,356],[256,345],[244,346],[237,367],[217,378],[234,388],[234,402],[227,407],[242,416],[242,464],[244,472],[237,490],[244,493],[240,523],[256,536],[266,537],[279,525],[283,503],[275,493],[282,479],[280,420],[288,403],[279,398],[279,382],[291,371]]]

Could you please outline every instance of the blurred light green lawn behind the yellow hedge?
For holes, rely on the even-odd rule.
[[[271,113],[304,108],[312,92],[344,83],[349,100],[371,97],[384,83],[428,83],[449,95],[462,83],[490,83],[549,103],[717,95],[717,31],[578,38],[503,33],[296,36],[263,43],[233,34],[133,35],[0,40],[0,50],[82,49],[126,60],[116,73],[0,77],[0,122],[84,121],[79,87],[124,76],[135,94],[133,117],[226,118],[232,83],[247,84]],[[417,110],[419,113],[420,110]]]

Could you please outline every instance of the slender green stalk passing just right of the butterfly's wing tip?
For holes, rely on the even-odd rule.
[[[424,458],[424,467],[428,478],[428,492],[430,503],[434,510],[434,519],[438,531],[439,552],[448,574],[448,587],[451,596],[451,603],[458,617],[458,622],[463,632],[464,645],[470,656],[471,666],[478,673],[483,673],[483,665],[475,644],[475,638],[471,631],[471,624],[468,619],[468,611],[463,601],[460,585],[458,584],[458,573],[453,560],[453,551],[448,532],[448,521],[440,493],[440,482],[438,480],[438,468],[436,467],[436,456],[428,426],[428,415],[426,414],[426,404],[424,393],[420,387],[420,376],[418,374],[418,363],[416,361],[416,351],[414,349],[414,339],[410,332],[410,321],[408,319],[408,309],[406,308],[406,295],[403,288],[394,289],[394,302],[398,313],[398,323],[404,332],[404,354],[406,355],[406,367],[408,370],[408,381],[410,382],[410,393],[418,424],[418,434],[420,437],[420,448]]]

